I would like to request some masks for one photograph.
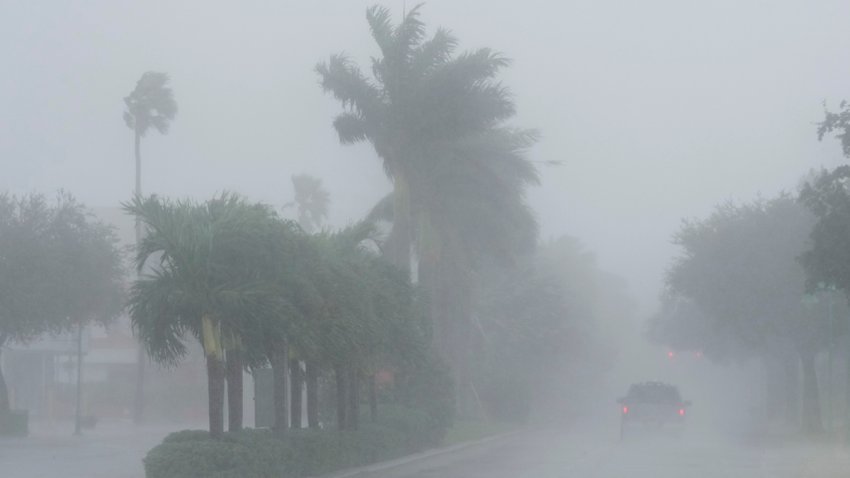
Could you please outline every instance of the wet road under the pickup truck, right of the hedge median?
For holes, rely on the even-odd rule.
[[[558,431],[524,432],[488,446],[445,454],[375,478],[784,478],[850,477],[840,447],[759,447],[720,437],[615,437]]]

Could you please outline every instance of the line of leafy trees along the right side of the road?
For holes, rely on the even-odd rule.
[[[818,137],[835,132],[850,157],[850,105],[840,108],[826,112]],[[673,348],[720,361],[762,359],[768,417],[807,433],[824,429],[818,354],[831,366],[847,344],[840,349],[850,371],[850,341],[837,340],[850,333],[848,177],[848,166],[812,172],[797,194],[728,202],[684,221],[674,236],[681,254],[650,321],[651,338]]]

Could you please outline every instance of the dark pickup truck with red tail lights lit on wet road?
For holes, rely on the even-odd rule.
[[[620,404],[620,438],[626,427],[631,425],[654,426],[661,428],[675,425],[681,428],[685,423],[688,400],[682,400],[679,390],[673,385],[662,382],[636,383],[629,387],[625,397],[617,400]]]

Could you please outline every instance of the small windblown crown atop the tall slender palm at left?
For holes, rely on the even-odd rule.
[[[124,122],[139,136],[145,136],[151,127],[160,134],[168,133],[168,126],[177,115],[177,101],[168,86],[168,75],[148,71],[136,82],[136,88],[124,98]]]

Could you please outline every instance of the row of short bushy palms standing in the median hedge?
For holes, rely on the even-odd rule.
[[[337,424],[350,429],[357,427],[360,381],[374,383],[378,369],[427,349],[413,287],[371,245],[369,223],[307,234],[271,207],[233,194],[203,203],[137,196],[125,209],[147,230],[130,294],[134,329],[163,364],[178,363],[188,340],[200,341],[213,436],[224,431],[225,388],[228,429],[242,427],[245,368],[271,365],[277,430],[288,427],[290,364],[298,368],[293,383],[307,364],[312,427],[318,375],[332,371]]]

